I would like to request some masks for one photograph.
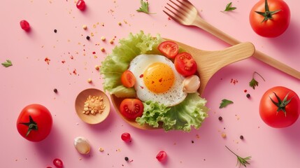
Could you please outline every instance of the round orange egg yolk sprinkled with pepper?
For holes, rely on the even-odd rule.
[[[151,92],[163,93],[172,87],[175,75],[169,65],[162,62],[155,62],[145,70],[143,80],[145,87]]]

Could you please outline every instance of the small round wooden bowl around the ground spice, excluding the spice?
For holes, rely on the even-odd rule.
[[[93,114],[87,115],[83,113],[85,101],[89,96],[103,97],[103,104],[105,104],[106,107],[102,113],[97,113],[95,115]],[[108,99],[108,96],[101,90],[90,88],[90,89],[83,90],[78,94],[75,101],[75,109],[78,117],[81,120],[83,120],[87,124],[94,125],[94,124],[101,123],[103,120],[107,118],[108,114],[110,113],[110,101]]]

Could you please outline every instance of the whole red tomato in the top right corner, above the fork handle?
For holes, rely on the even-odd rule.
[[[257,34],[276,37],[283,34],[290,25],[290,8],[283,0],[260,0],[252,7],[249,18]]]

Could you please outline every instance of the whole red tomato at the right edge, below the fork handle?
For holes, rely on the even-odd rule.
[[[298,95],[287,87],[277,86],[267,90],[259,104],[259,115],[271,127],[288,127],[300,114]]]

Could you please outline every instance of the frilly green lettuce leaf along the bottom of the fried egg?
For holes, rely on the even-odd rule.
[[[206,99],[199,97],[199,93],[188,94],[183,102],[172,107],[166,107],[151,100],[144,102],[143,105],[143,116],[136,118],[136,122],[152,127],[162,125],[166,131],[190,132],[192,127],[199,129],[203,120],[208,117]]]

